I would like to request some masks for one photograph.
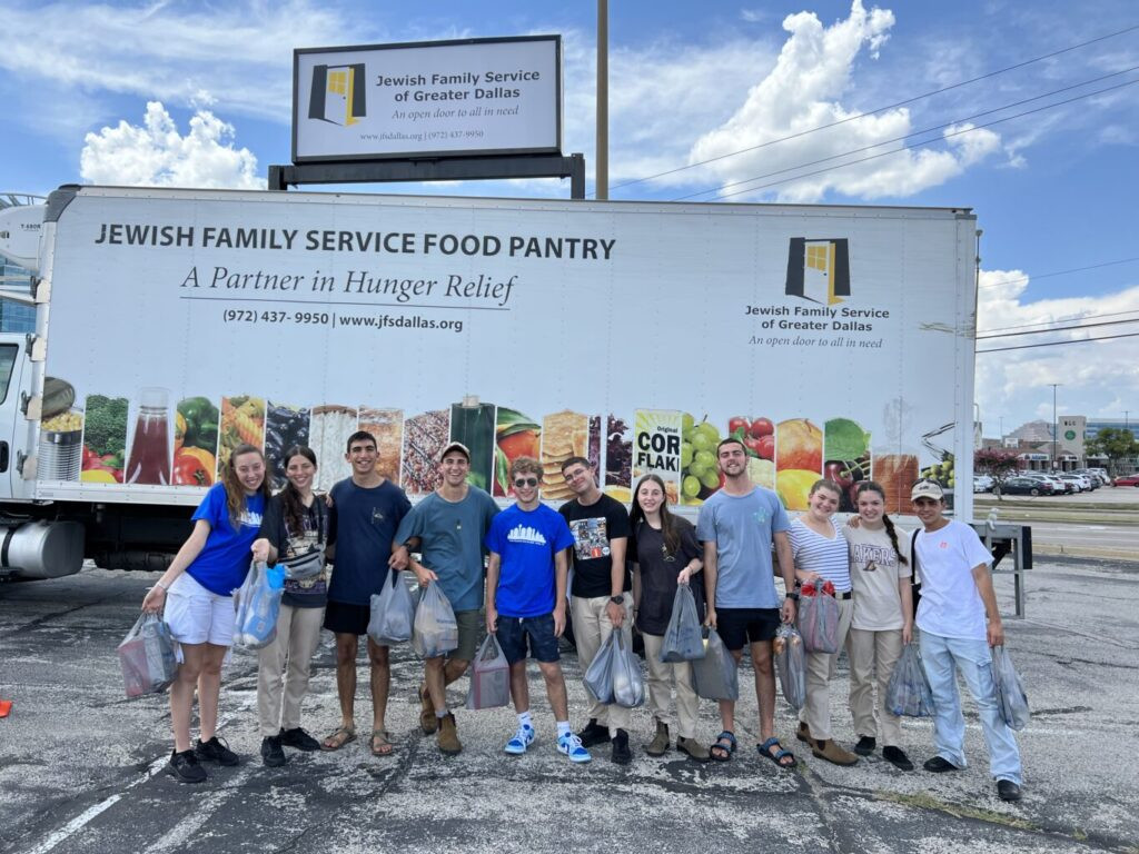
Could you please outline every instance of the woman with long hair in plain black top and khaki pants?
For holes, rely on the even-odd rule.
[[[629,515],[632,532],[630,556],[633,559],[633,615],[637,629],[645,637],[645,659],[648,662],[649,707],[656,720],[656,737],[645,746],[649,756],[662,756],[669,749],[669,700],[677,687],[677,749],[696,762],[708,761],[708,749],[696,739],[697,704],[693,688],[693,668],[688,662],[661,660],[664,633],[672,617],[672,602],[678,584],[688,584],[700,572],[700,547],[688,519],[669,512],[664,481],[646,475],[633,492]],[[694,594],[702,585],[691,585]],[[703,596],[697,611],[703,610]]]

